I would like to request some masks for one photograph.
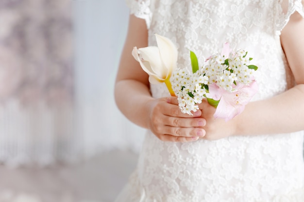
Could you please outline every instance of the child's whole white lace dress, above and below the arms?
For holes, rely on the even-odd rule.
[[[202,64],[224,42],[244,48],[259,66],[259,93],[282,93],[292,76],[280,31],[301,0],[130,0],[131,13],[154,33],[171,39],[178,67],[191,68],[188,49]],[[131,54],[131,50],[130,50]],[[154,97],[169,96],[152,85]],[[258,125],[257,125],[258,127]],[[137,169],[117,202],[304,202],[303,131],[228,137],[216,141],[163,142],[147,132]]]

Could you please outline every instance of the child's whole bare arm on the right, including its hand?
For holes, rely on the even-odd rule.
[[[281,44],[297,85],[267,100],[249,103],[231,121],[214,120],[215,109],[203,102],[206,118],[204,139],[217,140],[229,135],[261,135],[304,130],[304,19],[298,13],[282,31]]]

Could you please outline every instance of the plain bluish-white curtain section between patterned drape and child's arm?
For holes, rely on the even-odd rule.
[[[74,5],[77,107],[86,152],[128,148],[137,152],[144,129],[129,122],[114,100],[129,9],[124,0],[76,0]]]

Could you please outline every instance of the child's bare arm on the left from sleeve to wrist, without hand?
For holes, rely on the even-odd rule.
[[[148,46],[145,21],[130,16],[128,34],[122,50],[115,85],[115,100],[121,112],[135,124],[148,128],[144,114],[146,102],[153,100],[149,92],[148,75],[131,56],[133,47]],[[140,117],[140,118],[139,118]]]

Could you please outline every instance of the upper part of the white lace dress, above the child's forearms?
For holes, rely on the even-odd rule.
[[[295,11],[304,16],[300,0],[135,0],[130,6],[147,22],[149,46],[156,45],[155,33],[175,43],[179,68],[191,68],[189,50],[203,64],[228,42],[234,49],[248,50],[259,67],[255,78],[260,91],[254,100],[282,93],[287,82],[292,85],[280,31]],[[168,95],[164,85],[152,86],[152,93]]]

